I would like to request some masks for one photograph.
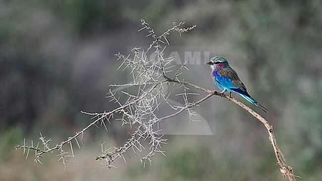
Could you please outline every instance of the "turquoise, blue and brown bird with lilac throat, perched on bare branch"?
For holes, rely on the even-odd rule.
[[[239,79],[237,72],[232,69],[228,63],[228,61],[220,56],[215,56],[211,58],[210,62],[206,63],[210,65],[212,68],[212,79],[215,85],[222,90],[220,93],[224,93],[225,91],[229,91],[229,97],[231,96],[231,92],[236,92],[244,97],[246,100],[256,105],[264,112],[267,112],[268,109],[258,103],[255,99],[253,99],[244,85],[244,83]]]

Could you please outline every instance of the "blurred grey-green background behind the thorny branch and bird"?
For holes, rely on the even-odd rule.
[[[154,156],[152,167],[143,168],[134,154],[128,164],[119,160],[117,171],[95,161],[102,142],[121,146],[127,139],[118,122],[108,133],[90,129],[86,149],[75,148],[77,164],[66,171],[55,153],[41,165],[33,162],[34,152],[25,160],[15,151],[24,137],[37,142],[39,132],[55,145],[80,131],[91,122],[81,110],[115,107],[105,98],[108,85],[127,80],[126,72],[116,71],[114,54],[151,43],[146,32],[137,32],[141,18],[157,33],[175,21],[197,25],[181,38],[168,37],[170,44],[214,47],[212,56],[227,58],[270,110],[263,115],[295,175],[321,180],[321,14],[321,0],[0,0],[0,180],[283,180],[264,126],[220,97],[197,109],[214,135],[167,135],[167,157]],[[208,66],[190,70],[187,81],[217,89]]]

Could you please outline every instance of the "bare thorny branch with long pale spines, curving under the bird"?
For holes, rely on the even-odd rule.
[[[235,102],[237,105],[244,108],[246,111],[251,113],[254,117],[256,117],[260,122],[262,122],[265,125],[265,127],[268,130],[269,140],[274,148],[277,162],[281,167],[280,170],[283,174],[283,177],[288,177],[290,181],[295,181],[292,167],[287,166],[285,164],[284,156],[277,146],[272,126],[268,123],[267,120],[265,120],[261,115],[247,107],[245,104],[241,103],[235,98],[230,97],[229,95],[217,92],[215,90],[208,90],[199,87],[197,85],[186,82],[185,79],[182,79],[182,81],[180,81],[179,76],[182,75],[184,70],[183,68],[187,69],[186,64],[188,60],[185,61],[185,63],[181,67],[174,70],[175,66],[171,65],[171,61],[175,57],[164,57],[164,49],[166,46],[161,50],[161,45],[169,45],[169,42],[166,39],[166,37],[170,33],[178,32],[181,36],[181,33],[189,32],[190,30],[193,30],[196,26],[180,28],[184,24],[183,22],[180,22],[179,24],[173,23],[172,28],[168,29],[162,35],[157,36],[154,30],[150,27],[148,23],[145,22],[144,19],[142,19],[141,22],[143,28],[139,31],[147,29],[149,33],[147,37],[151,36],[153,38],[153,42],[145,51],[140,51],[140,48],[137,47],[133,48],[133,58],[130,58],[131,54],[129,54],[128,56],[125,56],[122,53],[115,54],[118,57],[118,60],[122,61],[118,69],[123,67],[123,70],[128,70],[129,74],[133,78],[133,81],[128,84],[110,85],[111,87],[115,88],[131,87],[132,89],[136,90],[136,93],[131,94],[130,92],[126,91],[109,90],[109,95],[107,96],[107,98],[110,98],[110,101],[113,101],[114,103],[118,104],[119,107],[112,111],[104,113],[87,113],[81,111],[82,113],[92,115],[93,118],[95,118],[95,120],[86,128],[84,128],[80,132],[77,132],[74,136],[68,137],[68,139],[62,141],[60,144],[57,144],[54,147],[51,147],[49,144],[49,142],[52,141],[52,139],[46,139],[46,137],[41,135],[40,141],[38,142],[37,146],[34,146],[33,141],[31,143],[31,146],[27,146],[26,141],[24,140],[24,144],[22,146],[17,145],[16,149],[23,149],[24,154],[25,151],[28,150],[27,157],[29,155],[29,151],[34,150],[36,162],[40,162],[40,158],[42,158],[45,153],[52,153],[55,150],[59,151],[59,154],[57,155],[59,157],[58,161],[62,160],[62,163],[66,168],[66,162],[71,162],[67,160],[67,158],[75,157],[72,146],[73,141],[76,142],[78,147],[80,148],[78,141],[81,141],[82,145],[84,146],[82,138],[85,134],[85,131],[87,131],[90,127],[98,127],[98,125],[101,124],[101,126],[104,126],[107,130],[105,123],[110,123],[111,120],[117,120],[122,122],[122,126],[129,125],[133,130],[133,133],[130,133],[130,138],[121,147],[107,149],[104,146],[105,143],[103,143],[101,145],[102,154],[100,156],[97,156],[96,160],[103,160],[104,162],[102,164],[108,167],[109,169],[112,169],[117,168],[117,165],[115,163],[115,160],[117,158],[123,158],[124,162],[126,163],[124,154],[127,153],[129,150],[132,150],[135,154],[136,151],[148,151],[148,154],[141,158],[141,163],[145,166],[146,161],[150,162],[151,164],[151,157],[155,155],[156,152],[160,152],[164,155],[164,152],[161,148],[161,144],[166,143],[167,139],[163,138],[163,135],[160,134],[161,130],[159,129],[158,124],[161,121],[174,117],[184,112],[185,110],[187,110],[190,122],[196,121],[193,120],[193,116],[195,114],[192,111],[192,109],[196,105],[199,105],[200,103],[212,97],[213,95],[217,95]],[[158,56],[157,58],[148,59],[148,52],[152,49],[155,50]],[[171,75],[172,71],[174,72],[174,74],[172,73]],[[173,103],[170,103],[168,101],[171,92],[167,90],[167,87],[171,85],[176,89],[182,91],[182,93],[176,95],[183,95],[183,105],[173,105]],[[199,92],[206,92],[207,95],[200,98],[196,102],[189,102],[190,95],[200,95],[199,93],[188,92],[192,89]],[[120,98],[121,96],[122,99]],[[127,97],[125,101],[124,97]],[[157,113],[159,110],[159,105],[161,103],[168,104],[174,110],[173,113],[163,117],[158,116]],[[40,143],[44,145],[43,149],[39,147]],[[143,143],[147,143],[150,147],[145,148],[146,145]],[[67,146],[68,144],[70,146],[71,154],[69,154],[68,151],[65,151],[63,149],[63,147]]]

